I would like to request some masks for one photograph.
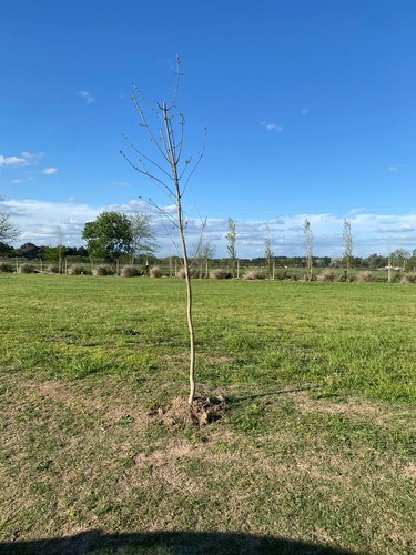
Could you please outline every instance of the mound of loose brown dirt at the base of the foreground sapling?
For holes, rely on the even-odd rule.
[[[195,425],[202,427],[222,418],[225,410],[225,398],[222,395],[204,397],[196,394],[192,405],[187,403],[185,397],[175,397],[168,410],[159,408],[158,416],[162,424],[169,428]]]

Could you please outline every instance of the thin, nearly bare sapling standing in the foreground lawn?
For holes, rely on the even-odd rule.
[[[154,158],[148,154],[144,148],[136,148],[125,135],[124,139],[129,143],[132,152],[132,158],[121,154],[140,174],[145,175],[156,186],[156,189],[169,199],[170,204],[174,204],[174,214],[164,209],[161,204],[153,201],[151,198],[148,202],[155,208],[177,230],[182,264],[185,272],[186,283],[186,317],[190,335],[190,395],[189,404],[192,405],[195,396],[195,335],[192,320],[192,285],[191,285],[191,269],[187,256],[185,228],[186,222],[183,215],[182,199],[186,191],[192,174],[201,162],[204,153],[205,140],[201,152],[197,153],[195,161],[192,157],[183,159],[184,147],[184,114],[176,105],[177,85],[180,80],[180,59],[176,54],[176,82],[171,102],[156,103],[154,107],[148,104],[138,87],[133,85],[132,101],[140,118],[140,127],[143,129],[148,139],[153,147]],[[148,105],[149,110],[144,109]],[[154,127],[150,123],[149,117],[155,117],[158,124]],[[206,128],[205,128],[206,133]],[[149,167],[148,167],[149,164]]]

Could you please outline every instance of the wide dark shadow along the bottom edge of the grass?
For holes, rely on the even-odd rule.
[[[357,552],[354,552],[357,555]],[[74,536],[0,544],[12,555],[353,555],[353,552],[311,543],[251,534],[215,532],[153,532],[102,534],[99,529]]]

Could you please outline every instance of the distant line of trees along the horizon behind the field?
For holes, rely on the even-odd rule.
[[[237,233],[235,223],[230,218],[229,232],[225,235],[229,256],[215,258],[214,246],[210,241],[204,241],[201,238],[199,244],[193,245],[192,258],[204,258],[212,263],[227,264],[232,268],[235,266],[236,260],[244,266],[267,268],[267,264],[272,263],[276,268],[308,268],[310,264],[314,268],[342,268],[344,263],[343,256],[315,256],[312,254],[312,233],[310,225],[307,225],[308,222],[306,222],[304,226],[305,255],[274,255],[271,251],[267,230],[264,256],[237,259],[235,249]],[[16,231],[12,239],[16,240],[17,236]],[[140,264],[144,263],[146,259],[155,263],[163,263],[169,260],[168,256],[156,256],[158,242],[149,214],[135,214],[129,218],[119,212],[102,212],[94,221],[85,223],[82,236],[87,241],[87,246],[65,246],[62,244],[51,246],[28,242],[19,248],[13,248],[7,241],[9,239],[7,234],[0,232],[0,256],[27,260],[42,259],[51,262],[58,261],[59,258],[67,259],[70,262],[88,262],[90,260],[114,262],[120,260],[124,263],[138,262]],[[390,261],[393,265],[413,269],[416,266],[416,249],[413,250],[413,253],[405,249],[396,249],[390,253]],[[384,268],[388,265],[389,256],[378,253],[372,253],[368,256],[352,256],[351,263],[355,269]]]

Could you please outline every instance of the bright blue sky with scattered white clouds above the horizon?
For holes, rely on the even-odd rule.
[[[130,100],[177,104],[186,153],[204,158],[184,198],[189,239],[225,255],[339,255],[416,248],[416,2],[291,0],[158,3],[140,0],[2,0],[0,211],[18,244],[82,244],[102,210],[164,205],[120,155],[122,133],[149,149]],[[146,150],[151,152],[150,150]],[[159,216],[154,225],[168,251]]]

